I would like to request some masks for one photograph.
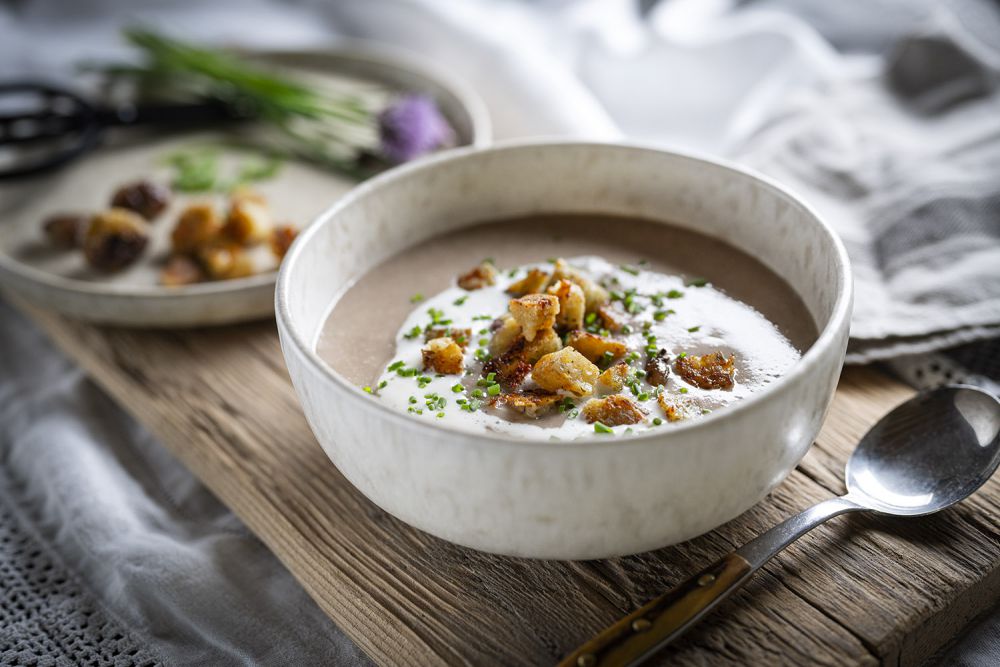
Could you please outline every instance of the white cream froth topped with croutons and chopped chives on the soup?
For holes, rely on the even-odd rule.
[[[415,307],[378,400],[464,431],[572,440],[669,428],[760,390],[800,357],[710,283],[601,257],[485,262]]]

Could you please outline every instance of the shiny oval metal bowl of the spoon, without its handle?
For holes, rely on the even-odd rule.
[[[1000,401],[952,385],[918,394],[883,417],[847,462],[847,498],[898,516],[967,498],[1000,465]]]

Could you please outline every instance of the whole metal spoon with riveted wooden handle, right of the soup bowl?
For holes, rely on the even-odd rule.
[[[637,665],[697,623],[775,554],[848,512],[922,516],[970,496],[1000,464],[1000,401],[953,385],[883,417],[847,462],[847,494],[824,500],[606,628],[561,667]]]

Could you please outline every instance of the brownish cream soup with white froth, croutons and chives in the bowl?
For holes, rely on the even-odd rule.
[[[732,246],[566,214],[390,258],[333,305],[317,350],[416,418],[570,440],[701,419],[787,372],[816,335],[795,291]]]

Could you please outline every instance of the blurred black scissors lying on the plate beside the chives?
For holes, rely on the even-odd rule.
[[[221,100],[185,104],[98,107],[75,92],[33,81],[0,83],[0,109],[18,100],[28,108],[0,113],[0,181],[56,169],[96,148],[108,128],[160,125],[189,128],[251,118],[248,109]],[[11,103],[7,104],[5,103]]]

